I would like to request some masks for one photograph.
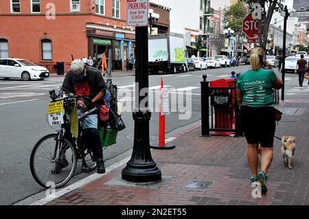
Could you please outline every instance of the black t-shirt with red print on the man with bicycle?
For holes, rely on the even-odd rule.
[[[98,69],[88,67],[86,74],[85,78],[76,81],[74,73],[69,71],[65,76],[62,88],[65,91],[82,95],[82,97],[89,96],[91,99],[98,95],[100,91],[106,91],[106,83]]]

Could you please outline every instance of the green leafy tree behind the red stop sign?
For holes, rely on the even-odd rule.
[[[245,36],[242,32],[242,20],[244,20],[244,18],[247,16],[248,11],[249,9],[243,1],[238,1],[237,3],[223,10],[223,21],[225,23],[225,28],[231,27],[231,30],[234,31],[236,36],[236,55],[238,45],[240,43],[240,38]]]

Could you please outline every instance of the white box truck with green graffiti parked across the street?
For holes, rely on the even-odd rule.
[[[150,73],[185,71],[185,38],[179,34],[149,36],[148,66]]]

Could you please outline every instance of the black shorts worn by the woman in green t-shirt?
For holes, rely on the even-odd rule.
[[[271,106],[241,106],[240,128],[248,143],[260,143],[262,148],[273,148],[276,129],[273,109]]]

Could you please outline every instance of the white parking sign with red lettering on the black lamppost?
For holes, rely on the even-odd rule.
[[[127,19],[128,26],[147,26],[148,25],[148,0],[128,0]]]

